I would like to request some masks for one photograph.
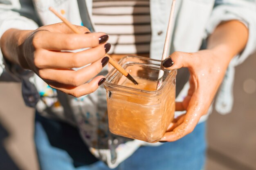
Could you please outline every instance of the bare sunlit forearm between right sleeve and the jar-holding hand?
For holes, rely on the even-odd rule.
[[[238,20],[223,22],[209,37],[207,49],[212,50],[228,64],[245,48],[248,36],[248,28],[242,22]]]

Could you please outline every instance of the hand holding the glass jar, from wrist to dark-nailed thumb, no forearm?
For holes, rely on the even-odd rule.
[[[175,141],[191,133],[202,115],[206,114],[225,75],[228,61],[214,50],[195,53],[174,52],[164,60],[165,68],[189,68],[190,88],[183,102],[176,102],[176,111],[186,111],[169,125],[162,141]]]

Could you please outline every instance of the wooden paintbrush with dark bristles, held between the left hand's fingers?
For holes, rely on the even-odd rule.
[[[72,29],[72,31],[74,31],[74,33],[82,34],[78,28],[76,28],[74,25],[72,25],[65,17],[63,17],[60,13],[58,13],[55,9],[53,9],[53,7],[49,7],[49,10],[52,11],[52,13],[54,13],[59,19],[61,19],[68,27],[70,27],[70,29]],[[124,68],[122,68],[121,65],[119,65],[117,62],[115,62],[108,54],[106,54],[106,55],[109,58],[108,62],[115,69],[117,69],[119,72],[121,72],[121,74],[126,76],[130,81],[132,81],[132,83],[134,83],[135,85],[138,85],[138,82],[135,81],[135,79],[126,70],[124,70]]]

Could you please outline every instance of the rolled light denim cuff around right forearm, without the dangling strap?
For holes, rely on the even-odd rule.
[[[256,2],[255,0],[216,0],[213,12],[207,24],[207,33],[211,34],[220,22],[240,20],[249,29],[249,39],[243,52],[231,61],[231,65],[242,63],[256,49]]]

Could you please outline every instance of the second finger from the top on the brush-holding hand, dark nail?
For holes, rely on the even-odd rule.
[[[34,62],[38,68],[80,68],[105,56],[110,50],[109,43],[83,50],[81,52],[56,52],[38,50],[34,54]]]

